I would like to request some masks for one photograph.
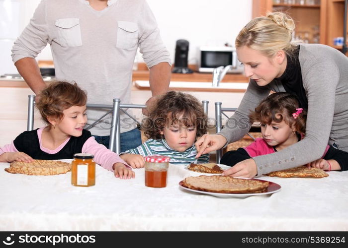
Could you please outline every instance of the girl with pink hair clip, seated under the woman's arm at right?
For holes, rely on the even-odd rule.
[[[285,92],[269,95],[249,115],[251,124],[261,124],[262,138],[257,138],[247,147],[228,151],[222,156],[220,163],[234,166],[245,159],[274,153],[300,141],[305,138],[306,113],[306,110],[300,108],[294,95]],[[326,171],[346,171],[347,161],[347,152],[328,145],[322,158],[307,166]],[[279,170],[276,164],[268,166],[272,167],[272,171]]]

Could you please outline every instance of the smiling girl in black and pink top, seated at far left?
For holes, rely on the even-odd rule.
[[[36,107],[47,126],[24,131],[11,144],[0,147],[0,162],[72,159],[75,153],[90,153],[116,178],[135,177],[124,160],[83,129],[87,123],[87,95],[77,84],[52,82],[37,98]]]

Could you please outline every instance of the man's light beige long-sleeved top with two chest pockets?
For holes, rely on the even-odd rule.
[[[12,48],[12,61],[35,58],[48,44],[58,80],[75,81],[88,93],[88,103],[130,104],[132,67],[137,48],[148,67],[171,63],[156,19],[145,0],[109,0],[101,11],[87,0],[42,0]],[[145,104],[145,103],[144,103]],[[88,123],[107,111],[88,110]],[[135,127],[120,113],[121,132]],[[91,129],[109,135],[111,120]]]

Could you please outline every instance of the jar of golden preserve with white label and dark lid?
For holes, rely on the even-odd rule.
[[[95,185],[94,156],[89,153],[76,153],[71,167],[71,184],[74,186]]]

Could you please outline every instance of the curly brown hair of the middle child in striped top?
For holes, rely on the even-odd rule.
[[[197,129],[196,138],[207,132],[208,118],[202,104],[190,94],[169,91],[157,99],[150,109],[149,117],[142,122],[142,128],[147,138],[162,139],[160,132],[166,126],[179,123],[184,126],[194,126]]]

